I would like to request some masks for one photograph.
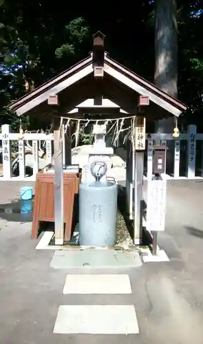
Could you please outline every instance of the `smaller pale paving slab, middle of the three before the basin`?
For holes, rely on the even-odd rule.
[[[67,275],[63,294],[131,294],[128,275]]]

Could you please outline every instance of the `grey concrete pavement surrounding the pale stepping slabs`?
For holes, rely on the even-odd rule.
[[[105,270],[51,268],[54,252],[35,249],[37,241],[30,239],[31,223],[1,219],[0,343],[81,344],[88,341],[90,344],[102,344],[111,341],[113,344],[202,344],[202,186],[200,181],[169,183],[167,228],[159,235],[159,245],[170,258],[167,263]],[[7,186],[7,200],[9,190],[14,192],[13,189],[14,186]],[[2,203],[6,202],[6,191]],[[94,290],[89,290],[90,294],[63,294],[67,275],[72,274],[91,275],[89,283],[95,275],[116,274],[118,279],[122,279],[121,275],[127,275],[131,293],[127,292],[129,283],[126,285],[122,280],[120,283],[125,286],[125,293],[121,293],[120,286],[121,290],[117,293],[107,294],[107,288],[112,289],[115,283],[114,277],[109,277],[109,286],[100,283],[99,294],[94,294]],[[139,333],[53,333],[61,305],[130,306],[124,308],[125,316],[129,319],[128,323],[133,321],[133,325],[137,320]],[[129,311],[131,306],[134,312]],[[76,318],[75,328],[77,321]]]

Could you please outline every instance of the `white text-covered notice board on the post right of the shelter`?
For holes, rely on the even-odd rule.
[[[167,181],[151,180],[147,188],[147,230],[164,230]]]

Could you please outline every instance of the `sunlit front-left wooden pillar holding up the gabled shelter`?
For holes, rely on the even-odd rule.
[[[60,118],[54,118],[54,232],[55,244],[63,245],[63,126]]]

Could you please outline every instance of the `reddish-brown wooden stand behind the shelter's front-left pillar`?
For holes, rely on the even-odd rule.
[[[63,173],[63,219],[65,222],[64,241],[70,241],[74,213],[74,202],[78,194],[81,173]],[[39,235],[39,222],[54,222],[54,173],[36,174],[32,238]]]

